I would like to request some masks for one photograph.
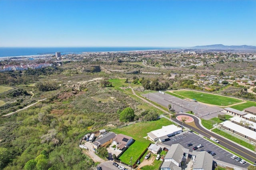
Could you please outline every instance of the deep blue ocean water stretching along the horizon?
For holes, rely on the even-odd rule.
[[[0,47],[0,57],[14,57],[24,55],[82,53],[82,52],[104,52],[104,51],[137,51],[168,49],[166,47]]]

